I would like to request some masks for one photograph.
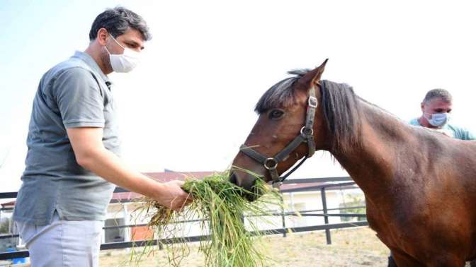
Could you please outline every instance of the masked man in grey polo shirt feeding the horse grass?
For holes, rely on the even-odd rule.
[[[126,167],[107,74],[128,72],[150,39],[125,8],[99,14],[84,52],[42,76],[33,101],[28,154],[13,213],[32,266],[98,266],[101,229],[114,184],[179,210],[181,182],[158,183]]]

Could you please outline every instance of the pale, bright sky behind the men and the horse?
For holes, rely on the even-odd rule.
[[[131,73],[111,74],[123,159],[142,172],[225,170],[259,97],[292,69],[329,58],[323,78],[408,121],[433,88],[475,131],[471,1],[0,0],[0,191],[18,191],[43,73],[89,44],[94,18],[125,6],[153,39]],[[294,178],[346,176],[317,153]]]

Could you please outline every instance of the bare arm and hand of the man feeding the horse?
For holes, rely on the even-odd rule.
[[[81,167],[130,191],[149,196],[164,206],[179,210],[191,202],[191,197],[181,189],[183,182],[159,183],[131,170],[114,153],[103,146],[103,129],[80,127],[67,129],[74,155]]]

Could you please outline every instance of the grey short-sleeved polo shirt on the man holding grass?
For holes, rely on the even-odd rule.
[[[108,84],[96,61],[83,52],[42,76],[33,100],[14,220],[47,225],[55,210],[62,220],[105,220],[115,186],[78,165],[66,129],[102,127],[104,146],[119,155]]]

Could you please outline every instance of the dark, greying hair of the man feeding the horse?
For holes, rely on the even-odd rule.
[[[108,30],[113,37],[123,35],[126,30],[132,28],[138,30],[142,35],[142,39],[145,41],[152,39],[145,20],[128,8],[121,6],[108,8],[96,17],[89,31],[90,41],[96,39],[98,30],[101,28]]]

